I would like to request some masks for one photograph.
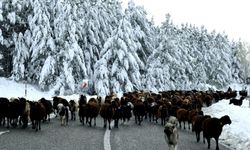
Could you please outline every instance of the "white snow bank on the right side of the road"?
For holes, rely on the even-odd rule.
[[[242,90],[246,86],[232,84],[233,90]],[[246,87],[248,95],[250,86]],[[225,89],[226,90],[226,89]],[[237,97],[239,98],[239,97]],[[249,97],[243,101],[242,106],[229,105],[229,100],[222,100],[210,107],[203,107],[204,114],[220,118],[229,115],[232,124],[223,127],[219,142],[235,150],[250,149],[250,102]]]

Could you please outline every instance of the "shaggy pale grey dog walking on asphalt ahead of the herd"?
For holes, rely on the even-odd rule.
[[[164,127],[164,137],[168,144],[169,150],[177,150],[179,134],[177,131],[177,119],[175,117],[169,118],[169,121]]]

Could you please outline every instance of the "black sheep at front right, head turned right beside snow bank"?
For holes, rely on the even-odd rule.
[[[202,123],[203,129],[203,143],[207,139],[208,149],[210,149],[210,139],[214,138],[216,141],[216,150],[219,150],[219,136],[221,135],[222,128],[226,124],[231,124],[232,121],[228,115],[219,118],[207,118]]]

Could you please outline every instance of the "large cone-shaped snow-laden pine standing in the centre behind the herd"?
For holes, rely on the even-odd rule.
[[[141,89],[140,68],[144,63],[137,54],[141,45],[134,33],[124,17],[105,43],[100,53],[102,57],[95,64],[94,82],[98,95]]]

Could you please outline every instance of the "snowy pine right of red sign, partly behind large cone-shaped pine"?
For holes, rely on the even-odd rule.
[[[100,51],[104,43],[117,28],[121,19],[121,4],[117,0],[87,0],[81,6],[84,10],[85,22],[82,24],[80,47],[85,56],[85,65],[89,79],[89,92],[94,92],[94,64],[100,59]]]

